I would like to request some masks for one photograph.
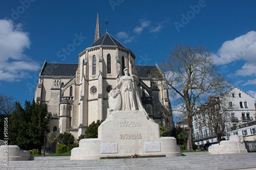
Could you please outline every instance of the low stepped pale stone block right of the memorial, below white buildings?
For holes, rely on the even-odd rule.
[[[220,144],[213,144],[208,148],[210,154],[238,154],[247,153],[243,136],[230,136],[229,140],[223,140]]]

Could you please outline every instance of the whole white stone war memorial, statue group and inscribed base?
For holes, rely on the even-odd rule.
[[[108,117],[98,128],[98,138],[81,139],[71,151],[71,160],[100,159],[132,154],[181,156],[174,137],[160,137],[159,125],[143,108],[138,78],[125,68],[109,93]]]

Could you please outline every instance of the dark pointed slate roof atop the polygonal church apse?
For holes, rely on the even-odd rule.
[[[91,46],[89,46],[89,48],[90,47],[94,47],[94,46],[98,46],[98,45],[102,45],[102,46],[115,46],[115,47],[126,48],[123,44],[121,44],[121,42],[117,41],[108,32],[106,32],[98,40],[96,40]]]

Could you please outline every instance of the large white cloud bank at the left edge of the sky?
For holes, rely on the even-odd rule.
[[[40,69],[40,65],[26,55],[30,47],[28,33],[22,25],[14,25],[11,20],[0,19],[0,80],[20,81],[29,77],[28,71]]]

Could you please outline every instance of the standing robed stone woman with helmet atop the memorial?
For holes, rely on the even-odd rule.
[[[120,89],[122,98],[121,110],[142,110],[145,111],[141,104],[140,95],[138,92],[136,80],[139,80],[137,76],[129,76],[129,69],[123,70],[124,76],[122,76],[117,85],[114,87]]]

